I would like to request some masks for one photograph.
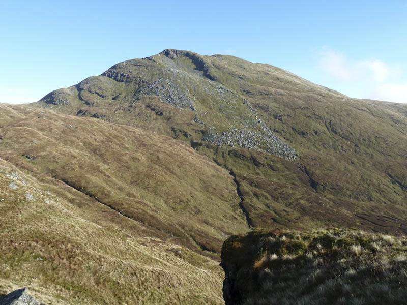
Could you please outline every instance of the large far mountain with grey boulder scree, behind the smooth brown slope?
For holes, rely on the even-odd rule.
[[[164,50],[32,106],[187,142],[231,170],[252,227],[407,232],[407,105],[234,56]]]

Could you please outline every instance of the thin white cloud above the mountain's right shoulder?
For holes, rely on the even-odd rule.
[[[319,68],[336,81],[357,86],[363,95],[359,98],[407,103],[407,83],[400,81],[400,69],[382,60],[367,58],[352,61],[341,52],[325,46],[319,54]]]

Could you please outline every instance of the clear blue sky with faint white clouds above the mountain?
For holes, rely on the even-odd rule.
[[[404,1],[2,1],[0,103],[131,58],[230,54],[355,98],[407,103]]]

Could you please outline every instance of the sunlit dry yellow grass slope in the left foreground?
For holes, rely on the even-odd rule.
[[[28,286],[45,303],[222,303],[217,261],[141,237],[143,225],[100,203],[79,208],[64,188],[0,159],[0,293]]]

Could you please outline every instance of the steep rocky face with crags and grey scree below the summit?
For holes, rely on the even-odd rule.
[[[194,125],[194,129],[203,129],[205,141],[295,158],[295,149],[263,123],[256,109],[240,92],[217,81],[219,69],[215,67],[222,65],[224,59],[221,56],[212,59],[216,63],[192,52],[164,50],[152,57],[115,65],[101,76],[56,90],[41,101],[48,105],[46,107],[68,108],[72,114],[101,115],[109,119],[111,113],[105,113],[106,109],[101,114],[86,106],[112,108],[110,104],[115,104],[115,112],[122,112],[123,106],[127,112],[133,112],[138,104],[165,116],[163,111],[155,111],[157,107],[151,104],[159,101],[186,110],[189,115],[184,123]],[[140,109],[136,112],[139,115]]]

